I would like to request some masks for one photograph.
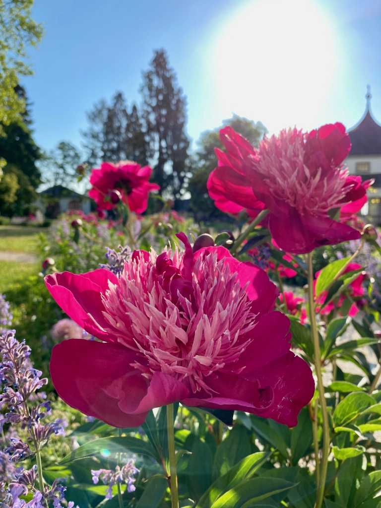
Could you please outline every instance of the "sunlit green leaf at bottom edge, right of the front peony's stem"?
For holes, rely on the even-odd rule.
[[[245,480],[228,490],[211,508],[248,508],[267,497],[295,487],[295,483],[280,478],[259,477]]]

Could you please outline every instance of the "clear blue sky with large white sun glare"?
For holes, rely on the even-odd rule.
[[[188,135],[233,112],[270,133],[354,125],[371,84],[381,122],[381,0],[35,0],[46,36],[23,80],[36,142],[81,147],[85,112],[122,90],[164,47],[187,96]]]

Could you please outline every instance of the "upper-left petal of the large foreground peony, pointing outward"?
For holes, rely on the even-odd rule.
[[[110,325],[102,313],[105,308],[101,297],[107,289],[107,280],[115,279],[112,272],[100,269],[82,275],[54,273],[45,277],[45,283],[61,309],[86,332],[106,342],[116,342],[117,335],[105,331]]]

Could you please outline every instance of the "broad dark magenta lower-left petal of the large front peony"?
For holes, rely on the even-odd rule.
[[[135,407],[139,397],[146,395],[148,380],[130,365],[136,359],[135,352],[119,344],[70,339],[53,347],[50,374],[58,395],[70,406],[114,427],[138,427],[147,411],[126,414],[118,405],[116,393],[118,380],[123,378],[125,384],[129,380]]]

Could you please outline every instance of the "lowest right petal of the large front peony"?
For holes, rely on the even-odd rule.
[[[302,407],[311,400],[315,382],[309,365],[289,351],[264,367],[242,374],[248,380],[258,380],[261,387],[273,387],[274,401],[261,416],[295,427]]]

